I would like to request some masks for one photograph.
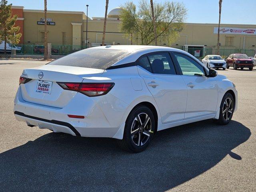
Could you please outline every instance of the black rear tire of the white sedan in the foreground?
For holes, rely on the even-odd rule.
[[[141,120],[138,120],[138,116],[140,116],[139,119]],[[149,118],[148,121],[147,118]],[[142,125],[140,122],[142,122]],[[145,122],[147,123],[145,125],[145,128],[143,128]],[[117,140],[118,146],[122,150],[128,152],[142,152],[150,144],[150,141],[152,140],[154,135],[154,131],[155,119],[152,111],[146,106],[138,106],[134,108],[132,112],[130,112],[125,122],[123,139]],[[144,143],[142,142],[143,140]]]

